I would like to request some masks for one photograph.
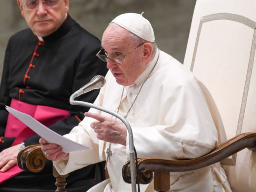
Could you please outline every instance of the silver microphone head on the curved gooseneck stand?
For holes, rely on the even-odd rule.
[[[75,92],[76,97],[87,93],[93,89],[100,89],[103,87],[106,83],[106,79],[102,75],[96,75],[94,76],[89,83],[86,83],[84,86],[82,86],[79,90]]]

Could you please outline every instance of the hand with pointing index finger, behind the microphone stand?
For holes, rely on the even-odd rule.
[[[99,140],[126,146],[127,129],[124,123],[96,113],[86,112],[84,115],[97,120],[91,123],[91,128]]]

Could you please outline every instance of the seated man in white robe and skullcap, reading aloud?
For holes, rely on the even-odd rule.
[[[116,17],[103,33],[97,56],[107,62],[109,71],[94,104],[128,120],[138,157],[195,158],[214,148],[217,131],[192,73],[157,48],[152,26],[142,15],[126,13]],[[92,150],[68,154],[61,146],[40,139],[44,154],[54,161],[60,174],[106,160],[106,150],[110,148],[110,178],[89,191],[131,191],[131,185],[122,179],[122,166],[129,160],[128,134],[123,123],[90,109],[65,137]],[[231,191],[219,163],[170,175],[170,191]],[[154,191],[152,184],[140,188]]]

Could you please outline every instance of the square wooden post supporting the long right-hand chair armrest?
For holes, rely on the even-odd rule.
[[[170,190],[169,172],[154,172],[154,189],[160,192]]]

